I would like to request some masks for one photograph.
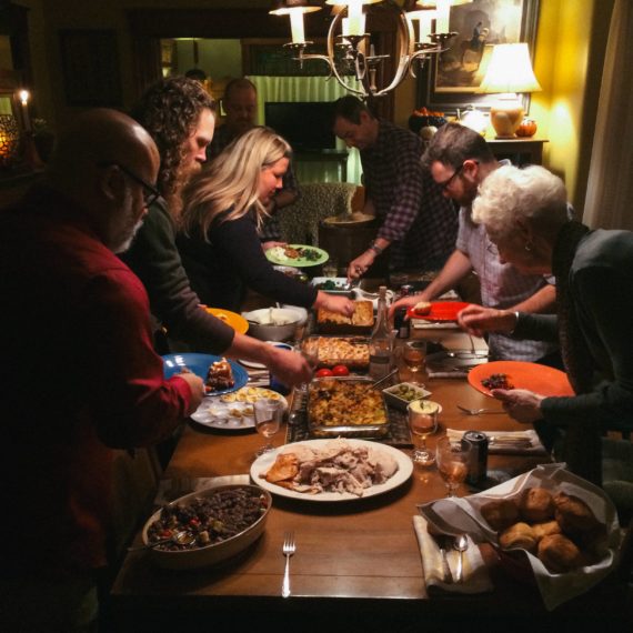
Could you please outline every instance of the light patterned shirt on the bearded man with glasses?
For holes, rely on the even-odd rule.
[[[547,285],[540,274],[521,274],[512,264],[499,261],[499,251],[485,227],[471,219],[470,207],[460,209],[456,248],[468,255],[481,284],[481,302],[499,310],[512,308]],[[518,340],[491,332],[488,340],[492,360],[537,361],[557,349],[543,341]]]

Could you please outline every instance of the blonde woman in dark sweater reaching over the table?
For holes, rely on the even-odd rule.
[[[272,130],[253,128],[185,189],[178,248],[203,303],[239,311],[251,288],[274,301],[352,314],[349,299],[291,279],[264,257],[258,227],[282,187],[291,153]]]

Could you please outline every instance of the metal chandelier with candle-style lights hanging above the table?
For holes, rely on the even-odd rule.
[[[365,6],[383,2],[395,12],[396,57],[395,71],[389,84],[376,86],[376,72],[389,54],[375,54],[370,43],[371,34],[365,32]],[[349,92],[362,98],[382,97],[394,90],[404,78],[415,77],[415,66],[422,68],[433,56],[450,48],[451,40],[458,34],[449,31],[451,6],[465,4],[472,0],[418,0],[416,9],[405,11],[394,0],[326,0],[332,4],[334,18],[328,31],[328,54],[305,52],[313,42],[305,40],[303,14],[322,9],[313,0],[275,0],[270,13],[289,16],[292,42],[284,44],[294,53],[294,59],[303,68],[305,60],[321,60],[330,68],[330,77]],[[415,22],[418,27],[415,28]],[[345,77],[354,77],[355,86],[345,82]]]

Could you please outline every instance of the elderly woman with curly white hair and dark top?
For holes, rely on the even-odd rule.
[[[541,167],[502,167],[473,203],[499,258],[523,273],[556,277],[557,314],[524,314],[469,307],[468,331],[560,339],[575,395],[545,398],[528,390],[494,390],[508,412],[536,428],[564,429],[562,458],[571,471],[601,482],[601,434],[633,425],[633,233],[590,230],[570,221],[560,178]]]

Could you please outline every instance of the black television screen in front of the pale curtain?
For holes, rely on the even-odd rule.
[[[333,150],[332,107],[329,101],[269,101],[264,104],[265,124],[282,135],[295,152]]]

